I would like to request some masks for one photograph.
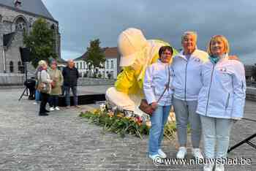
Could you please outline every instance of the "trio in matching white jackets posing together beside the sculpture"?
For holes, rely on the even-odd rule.
[[[151,116],[148,143],[149,157],[153,160],[166,157],[161,150],[161,141],[172,104],[176,113],[178,159],[184,159],[187,154],[188,123],[195,158],[203,159],[199,148],[202,131],[206,159],[226,158],[230,129],[234,121],[243,116],[244,65],[240,61],[229,60],[229,45],[223,36],[211,38],[207,53],[197,50],[196,42],[195,32],[185,32],[181,37],[183,50],[173,57],[173,62],[169,64],[172,47],[161,47],[159,61],[148,66],[146,71],[144,94],[156,109]],[[166,85],[167,80],[170,80],[170,85]],[[157,98],[165,86],[168,86],[168,91],[158,102]],[[203,169],[211,171],[213,168],[214,163],[209,162]],[[224,165],[216,164],[215,170],[224,170]]]

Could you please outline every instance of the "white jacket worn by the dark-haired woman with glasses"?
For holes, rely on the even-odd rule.
[[[170,72],[170,83],[168,83],[168,77]],[[171,83],[173,80],[173,72],[170,69],[170,64],[162,63],[157,61],[157,63],[151,64],[146,69],[143,91],[146,96],[148,104],[152,102],[157,102],[159,97],[162,95],[165,87],[168,86],[165,94],[159,100],[158,104],[160,106],[167,106],[172,104],[173,90],[171,89]]]

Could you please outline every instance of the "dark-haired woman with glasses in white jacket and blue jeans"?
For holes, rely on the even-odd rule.
[[[149,157],[153,161],[157,157],[166,158],[166,154],[161,150],[161,142],[164,126],[172,104],[173,91],[170,89],[173,77],[173,72],[170,69],[170,59],[172,56],[172,47],[160,47],[159,60],[157,63],[148,66],[143,83],[146,100],[155,109],[153,115],[151,115],[151,129],[148,142]]]

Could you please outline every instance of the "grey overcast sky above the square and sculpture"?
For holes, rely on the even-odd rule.
[[[222,34],[230,54],[245,64],[256,63],[256,1],[252,0],[42,0],[59,21],[61,57],[78,58],[91,39],[101,47],[116,46],[126,28],[143,31],[147,39],[164,39],[181,48],[181,34],[197,31],[197,47],[206,50],[211,36]]]

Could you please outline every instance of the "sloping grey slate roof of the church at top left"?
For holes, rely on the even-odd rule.
[[[54,20],[53,16],[45,7],[41,0],[20,0],[20,7],[15,7],[14,0],[0,0],[0,6],[8,7],[16,11],[29,12],[34,15],[39,15],[50,20]],[[54,20],[56,21],[56,20]]]

